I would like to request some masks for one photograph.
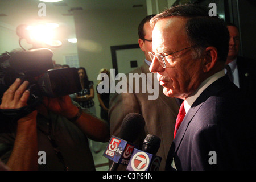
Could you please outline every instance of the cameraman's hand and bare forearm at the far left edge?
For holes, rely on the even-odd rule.
[[[21,85],[16,81],[3,94],[0,109],[18,109],[27,105],[30,92],[26,90],[28,82]],[[38,142],[36,133],[36,111],[17,121],[16,138],[13,151],[7,162],[11,170],[38,169]]]

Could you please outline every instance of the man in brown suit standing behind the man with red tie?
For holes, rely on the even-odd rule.
[[[156,155],[162,157],[162,162],[160,164],[159,170],[164,170],[165,160],[167,158],[168,150],[171,146],[173,136],[174,136],[174,126],[179,111],[179,105],[174,98],[169,98],[163,94],[163,87],[158,84],[158,81],[154,81],[155,74],[149,71],[149,66],[151,64],[151,59],[148,55],[148,51],[152,51],[152,28],[149,26],[149,21],[154,15],[146,16],[139,24],[138,34],[139,34],[139,46],[144,52],[145,60],[141,67],[134,69],[130,73],[138,73],[139,75],[150,74],[152,77],[152,82],[148,81],[146,83],[140,84],[150,84],[153,88],[158,87],[159,96],[154,100],[149,100],[148,96],[150,93],[121,93],[121,94],[110,94],[110,104],[109,104],[109,118],[110,118],[110,134],[114,136],[119,136],[120,126],[122,124],[123,118],[129,113],[139,113],[142,114],[145,119],[144,133],[135,142],[138,146],[142,146],[142,142],[147,134],[156,135],[161,139],[160,148]],[[127,74],[128,75],[128,74]],[[130,85],[131,86],[131,85]],[[127,79],[127,88],[129,88],[129,79]],[[135,86],[133,85],[133,89]],[[147,90],[148,91],[148,90]],[[136,126],[134,126],[136,127]],[[121,166],[121,165],[120,165]],[[125,170],[125,167],[119,170]]]

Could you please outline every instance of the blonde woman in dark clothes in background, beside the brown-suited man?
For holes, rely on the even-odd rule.
[[[98,101],[100,102],[100,109],[101,109],[101,119],[104,119],[109,123],[109,118],[108,118],[108,111],[109,111],[109,94],[110,94],[110,72],[106,68],[100,69],[100,74],[105,73],[102,75],[102,79],[98,81],[97,84],[97,96],[98,96]],[[105,79],[108,79],[108,92],[107,93],[99,93],[98,92],[98,85]],[[104,89],[104,85],[102,86],[101,89]]]

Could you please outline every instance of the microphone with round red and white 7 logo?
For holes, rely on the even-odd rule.
[[[134,149],[127,171],[158,171],[162,158],[156,156],[161,139],[148,134],[144,139],[142,150]]]

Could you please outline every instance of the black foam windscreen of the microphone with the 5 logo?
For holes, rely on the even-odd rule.
[[[130,113],[123,118],[119,137],[133,143],[143,131],[145,120],[141,114]]]

